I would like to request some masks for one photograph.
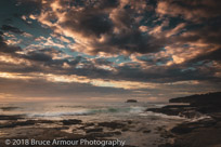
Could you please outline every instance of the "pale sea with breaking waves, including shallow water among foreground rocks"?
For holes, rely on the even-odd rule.
[[[120,133],[105,137],[108,139],[126,141],[126,145],[139,147],[156,147],[165,142],[172,142],[165,138],[161,133],[181,123],[185,118],[167,116],[162,113],[155,113],[146,111],[147,108],[162,107],[166,103],[57,103],[57,102],[36,102],[36,103],[3,103],[0,105],[1,116],[23,116],[26,120],[52,120],[60,122],[62,120],[77,119],[83,123],[101,123],[101,122],[131,122],[126,131],[116,129]],[[10,120],[12,121],[12,120]],[[5,123],[5,120],[1,120]],[[58,128],[63,124],[53,123],[38,123],[35,128]],[[66,133],[77,133],[86,135],[86,130],[80,130],[82,124],[68,125],[62,131]],[[0,130],[0,137],[17,136],[17,130],[30,130],[32,125],[15,128],[3,128]],[[83,124],[83,128],[84,124]],[[115,130],[115,131],[116,131]],[[103,130],[103,132],[109,129]],[[13,134],[14,133],[14,134]]]

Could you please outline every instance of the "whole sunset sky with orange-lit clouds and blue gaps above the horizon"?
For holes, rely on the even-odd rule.
[[[0,101],[220,91],[221,1],[1,0]]]

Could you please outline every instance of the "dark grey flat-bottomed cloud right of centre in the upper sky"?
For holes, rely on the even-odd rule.
[[[152,53],[157,52],[162,48],[162,42],[151,36],[143,36],[140,30],[129,30],[127,32],[113,35],[105,43],[94,43],[92,53],[107,52],[116,54],[118,52],[127,53]]]

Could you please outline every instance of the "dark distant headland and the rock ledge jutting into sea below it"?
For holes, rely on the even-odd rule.
[[[188,103],[190,105],[170,105],[162,108],[151,108],[147,111],[186,118],[197,118],[200,117],[200,113],[221,112],[221,92],[172,98],[169,102]]]

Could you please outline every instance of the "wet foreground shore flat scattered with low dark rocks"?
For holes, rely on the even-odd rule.
[[[126,141],[123,147],[157,147],[159,144],[166,143],[167,135],[161,136],[161,133],[168,130],[167,125],[159,124],[156,128],[152,128],[151,125],[147,125],[148,122],[139,122],[135,119],[88,122],[80,119],[34,120],[25,117],[17,118],[17,116],[1,117],[8,119],[8,121],[0,123],[0,134],[6,133],[0,135],[1,147],[10,147],[9,145],[5,145],[6,139],[10,139],[11,142],[13,139],[24,139],[29,143],[31,143],[31,139],[36,139],[39,142],[49,141],[52,143],[53,139],[61,142],[80,142],[82,138],[88,141]],[[170,124],[170,128],[172,124]],[[131,139],[128,139],[128,136],[130,136]],[[151,142],[144,145],[143,143],[145,143],[144,141],[146,141],[146,138],[148,138],[147,142]],[[35,146],[40,147],[43,145]],[[55,147],[56,145],[50,144],[47,146]],[[84,147],[83,145],[75,146]]]

